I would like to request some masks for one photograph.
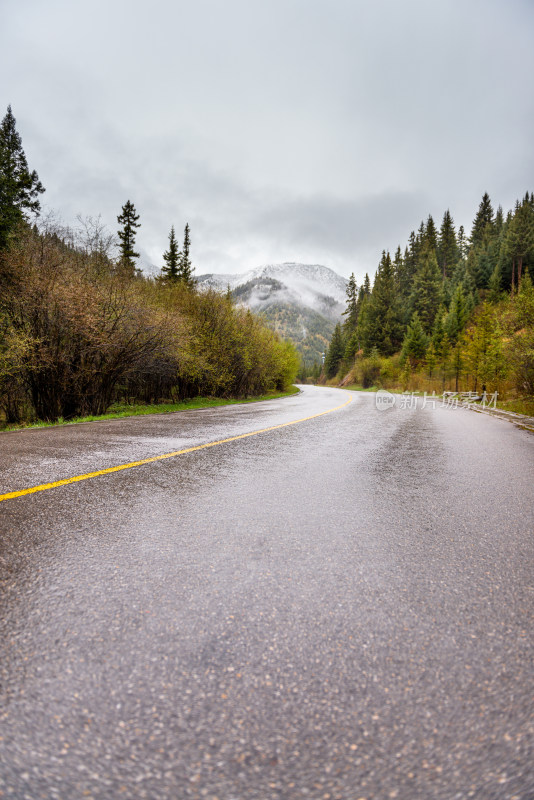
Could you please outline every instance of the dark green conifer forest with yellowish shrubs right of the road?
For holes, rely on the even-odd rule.
[[[471,234],[446,211],[402,252],[383,252],[374,282],[351,276],[322,380],[392,391],[497,391],[534,411],[534,194],[494,212],[485,194]]]

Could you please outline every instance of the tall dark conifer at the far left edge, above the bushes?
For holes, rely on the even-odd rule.
[[[11,106],[0,125],[0,251],[28,214],[39,214],[44,192],[37,172],[30,172]]]

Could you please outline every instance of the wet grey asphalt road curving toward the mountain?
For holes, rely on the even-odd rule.
[[[3,434],[0,493],[348,396]],[[0,797],[534,798],[534,437],[353,398],[0,503]]]

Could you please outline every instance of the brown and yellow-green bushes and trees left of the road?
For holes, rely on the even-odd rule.
[[[99,219],[80,219],[76,231],[35,224],[43,191],[9,108],[0,126],[0,425],[101,416],[116,403],[246,399],[293,383],[292,344],[229,296],[197,291],[189,225],[181,248],[171,228],[161,273],[147,278],[130,200],[116,248]]]

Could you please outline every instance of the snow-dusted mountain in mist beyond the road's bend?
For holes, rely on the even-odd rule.
[[[200,275],[200,289],[226,292],[266,317],[311,366],[321,360],[345,310],[346,278],[321,264],[267,264],[241,275]]]

